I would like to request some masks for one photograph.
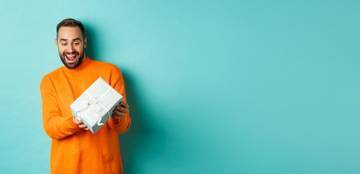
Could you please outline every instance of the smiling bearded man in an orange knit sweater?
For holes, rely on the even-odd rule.
[[[51,141],[51,174],[122,174],[118,134],[131,124],[122,74],[115,65],[95,61],[84,50],[84,26],[75,19],[57,25],[56,47],[65,66],[45,75],[40,84],[43,126]],[[110,119],[92,134],[73,117],[70,104],[99,77],[124,101]]]

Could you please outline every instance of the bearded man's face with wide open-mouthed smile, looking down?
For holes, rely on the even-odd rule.
[[[55,39],[61,61],[68,69],[77,68],[84,60],[87,38],[83,38],[79,27],[60,27]]]

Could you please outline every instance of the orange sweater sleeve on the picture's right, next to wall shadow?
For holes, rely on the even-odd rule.
[[[122,78],[121,71],[119,68],[115,66],[114,70],[112,71],[111,77],[110,77],[110,85],[113,87],[116,91],[118,91],[122,96],[124,101],[126,102],[126,96],[125,96],[125,85],[124,80]],[[131,119],[129,115],[129,110],[127,113],[125,113],[122,117],[116,119],[113,116],[107,121],[107,124],[109,128],[112,131],[115,131],[116,133],[124,133],[130,128]]]

